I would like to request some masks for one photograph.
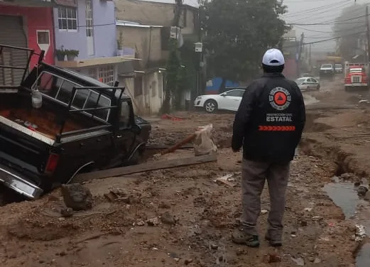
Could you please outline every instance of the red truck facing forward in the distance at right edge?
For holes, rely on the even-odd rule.
[[[369,89],[369,77],[366,75],[366,69],[364,65],[349,66],[346,71],[346,77],[344,78],[344,89],[350,90],[368,90]]]

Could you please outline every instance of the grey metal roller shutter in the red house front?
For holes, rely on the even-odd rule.
[[[27,38],[23,31],[21,16],[0,15],[0,44],[27,48]],[[24,50],[4,48],[0,55],[0,65],[25,67],[28,53]],[[0,69],[0,85],[20,85],[23,70]]]

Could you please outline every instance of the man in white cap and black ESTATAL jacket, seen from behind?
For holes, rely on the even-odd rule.
[[[284,56],[278,49],[263,55],[264,75],[249,85],[236,113],[232,150],[243,146],[241,227],[232,234],[236,244],[259,246],[256,222],[261,213],[261,192],[268,182],[270,212],[266,240],[282,245],[285,190],[290,161],[305,126],[305,104],[298,85],[281,74]]]

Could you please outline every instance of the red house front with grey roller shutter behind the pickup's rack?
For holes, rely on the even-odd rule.
[[[0,1],[0,44],[30,48],[36,53],[45,50],[44,61],[54,64],[53,1],[13,0]],[[37,63],[31,59],[30,67]],[[23,67],[27,53],[4,49],[0,65]],[[6,72],[6,73],[5,73]],[[0,70],[0,85],[17,85],[23,70]]]

